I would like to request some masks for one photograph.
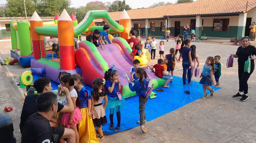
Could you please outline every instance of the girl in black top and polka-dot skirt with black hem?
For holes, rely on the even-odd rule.
[[[97,131],[99,135],[97,136],[98,140],[104,139],[102,125],[107,123],[107,118],[105,114],[105,109],[107,107],[108,98],[106,92],[102,89],[105,81],[101,78],[95,78],[93,80],[93,91],[91,91],[91,113],[92,120],[94,125],[97,127]],[[104,99],[104,106],[102,105],[102,101]]]

